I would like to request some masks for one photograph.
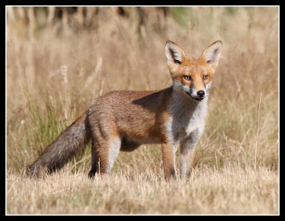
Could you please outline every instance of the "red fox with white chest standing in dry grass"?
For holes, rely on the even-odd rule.
[[[110,91],[58,135],[26,170],[29,176],[52,173],[81,153],[90,140],[91,170],[108,174],[120,150],[160,143],[165,179],[176,178],[175,152],[180,146],[180,176],[188,178],[195,146],[204,131],[207,99],[222,52],[215,41],[199,57],[187,57],[172,41],[165,44],[173,84],[160,91]]]

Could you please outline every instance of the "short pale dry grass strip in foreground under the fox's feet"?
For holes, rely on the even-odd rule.
[[[166,183],[162,173],[107,178],[60,171],[31,180],[9,173],[9,214],[276,214],[278,175],[267,168],[196,168],[189,181]]]

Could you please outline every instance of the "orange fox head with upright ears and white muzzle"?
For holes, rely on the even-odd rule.
[[[221,52],[222,41],[215,41],[198,58],[187,57],[180,46],[167,41],[165,54],[173,88],[197,102],[207,98]]]

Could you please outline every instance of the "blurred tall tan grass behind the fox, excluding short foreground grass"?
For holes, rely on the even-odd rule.
[[[171,86],[167,40],[188,56],[223,43],[195,167],[239,163],[277,171],[276,6],[7,6],[7,169],[21,173],[98,96]],[[89,153],[72,170],[88,171]],[[153,165],[160,173],[161,163],[160,148],[141,148],[120,153],[114,170]]]

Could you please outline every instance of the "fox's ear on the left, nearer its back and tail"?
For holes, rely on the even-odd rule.
[[[172,41],[165,43],[165,55],[167,58],[167,65],[170,69],[177,67],[185,60],[185,52]]]

